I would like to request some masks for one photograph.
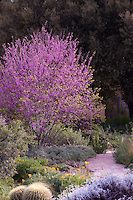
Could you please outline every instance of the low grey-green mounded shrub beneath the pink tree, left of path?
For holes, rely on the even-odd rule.
[[[40,157],[48,158],[52,163],[65,163],[66,161],[85,161],[96,154],[89,146],[49,146],[37,150]]]

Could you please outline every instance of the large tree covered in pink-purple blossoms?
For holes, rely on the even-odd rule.
[[[92,58],[83,60],[72,35],[52,36],[43,27],[30,40],[5,47],[2,59],[0,107],[21,113],[39,142],[50,124],[101,118],[104,107],[91,88]]]

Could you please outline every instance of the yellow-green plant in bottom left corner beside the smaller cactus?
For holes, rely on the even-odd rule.
[[[9,200],[8,194],[13,187],[12,178],[0,179],[0,200]]]

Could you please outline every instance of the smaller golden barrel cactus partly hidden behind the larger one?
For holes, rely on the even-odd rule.
[[[13,188],[9,193],[10,200],[22,200],[22,195],[25,188],[26,188],[25,185],[21,185],[16,188]]]

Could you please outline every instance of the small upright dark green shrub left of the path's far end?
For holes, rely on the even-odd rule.
[[[96,153],[103,153],[108,147],[108,137],[102,126],[93,125],[90,144]]]

